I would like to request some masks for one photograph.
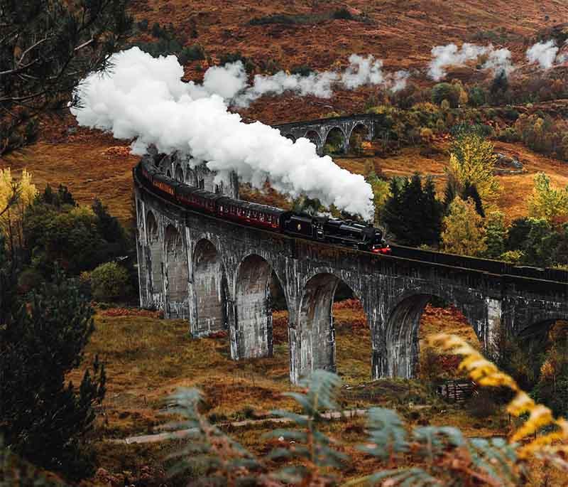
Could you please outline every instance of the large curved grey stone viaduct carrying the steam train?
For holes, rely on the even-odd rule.
[[[162,156],[157,164],[179,181],[203,178],[209,181],[205,188],[214,184],[207,171],[177,156]],[[221,189],[234,196],[235,185]],[[187,319],[195,337],[228,331],[235,360],[266,357],[273,353],[274,272],[290,316],[292,382],[316,368],[335,370],[332,304],[339,282],[351,288],[366,313],[373,378],[413,377],[420,316],[432,296],[457,306],[488,351],[501,331],[537,336],[568,319],[567,279],[492,274],[474,265],[377,256],[295,239],[187,210],[136,177],[134,186],[141,306]]]

